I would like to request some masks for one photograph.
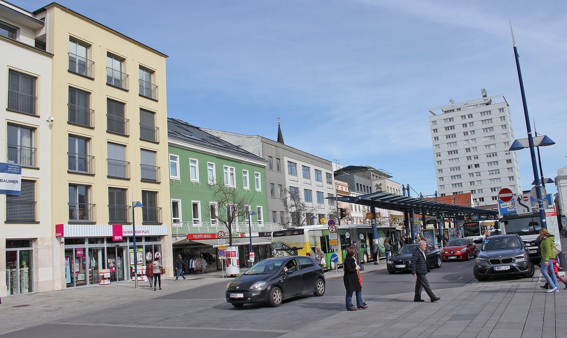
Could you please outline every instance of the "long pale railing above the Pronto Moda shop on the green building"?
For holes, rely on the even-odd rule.
[[[252,222],[252,233],[272,232],[285,229],[281,223],[255,223]],[[225,231],[228,236],[226,226],[221,222],[180,222],[172,223],[171,233],[177,235],[186,234],[214,234],[219,230]],[[232,234],[248,233],[248,223],[239,222],[232,224]]]

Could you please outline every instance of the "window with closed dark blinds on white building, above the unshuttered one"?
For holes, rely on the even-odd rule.
[[[36,99],[36,78],[10,69],[8,71],[7,109],[36,115]]]

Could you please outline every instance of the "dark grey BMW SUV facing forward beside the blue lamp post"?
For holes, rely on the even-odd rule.
[[[502,274],[533,277],[534,271],[522,238],[509,234],[492,235],[484,240],[472,272],[477,280],[485,281]]]

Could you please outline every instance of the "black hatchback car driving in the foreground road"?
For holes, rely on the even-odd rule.
[[[325,293],[323,268],[309,256],[273,257],[260,261],[226,286],[226,301],[280,306],[284,299]]]

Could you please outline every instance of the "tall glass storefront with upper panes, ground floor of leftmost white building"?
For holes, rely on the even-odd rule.
[[[7,294],[33,291],[32,241],[6,240],[6,287]]]

